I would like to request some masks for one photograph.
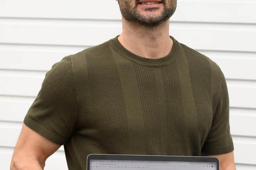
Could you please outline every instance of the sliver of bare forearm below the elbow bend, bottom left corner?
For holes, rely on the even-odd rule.
[[[10,170],[43,170],[44,164],[33,156],[13,156]]]

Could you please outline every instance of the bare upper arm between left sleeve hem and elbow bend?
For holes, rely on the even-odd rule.
[[[40,166],[44,167],[46,159],[60,146],[23,124],[13,155],[17,159],[23,158],[24,160],[35,158]]]

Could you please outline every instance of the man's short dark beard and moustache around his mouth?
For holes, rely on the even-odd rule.
[[[152,16],[152,17],[146,17],[140,12],[138,12],[137,6],[138,6],[138,1],[136,0],[136,5],[135,7],[132,7],[131,4],[129,3],[130,0],[122,0],[120,1],[120,11],[122,16],[131,22],[138,23],[140,25],[144,25],[147,27],[154,27],[158,26],[164,21],[168,20],[172,14],[174,14],[176,10],[176,3],[174,5],[171,3],[169,7],[166,7],[166,0],[163,0],[162,3],[164,5],[164,9],[158,16]],[[175,1],[176,2],[176,1]],[[154,11],[157,10],[156,8],[148,8],[148,11]]]

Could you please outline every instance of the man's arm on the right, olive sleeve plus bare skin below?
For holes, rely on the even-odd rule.
[[[224,74],[212,127],[202,146],[202,156],[213,156],[220,160],[220,170],[235,170],[234,144],[229,125],[229,97]]]

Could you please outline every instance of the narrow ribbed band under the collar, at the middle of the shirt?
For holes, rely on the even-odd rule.
[[[146,135],[146,154],[161,153],[161,126],[156,89],[156,79],[153,68],[134,64],[142,111],[144,116]]]

